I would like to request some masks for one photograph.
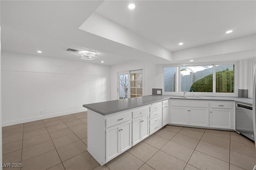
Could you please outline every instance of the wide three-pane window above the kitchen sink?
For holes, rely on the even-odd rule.
[[[164,92],[235,93],[235,64],[178,65],[163,69]]]

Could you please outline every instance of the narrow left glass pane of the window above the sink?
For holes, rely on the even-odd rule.
[[[177,67],[164,67],[164,91],[175,91],[175,79],[176,79]]]

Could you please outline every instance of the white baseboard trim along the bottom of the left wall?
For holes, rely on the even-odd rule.
[[[83,108],[83,109],[76,109],[76,110],[72,110],[72,111],[53,113],[53,114],[49,114],[49,115],[39,115],[36,117],[27,117],[27,118],[23,118],[23,119],[15,119],[12,121],[3,121],[2,127],[6,127],[6,126],[10,126],[10,125],[17,125],[20,123],[27,123],[27,122],[32,122],[32,121],[39,121],[42,119],[48,119],[48,118],[58,117],[58,116],[63,116],[63,115],[70,115],[73,113],[84,112],[84,111],[87,111],[87,109]]]

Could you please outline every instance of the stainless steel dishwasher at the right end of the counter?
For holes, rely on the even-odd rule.
[[[252,105],[236,102],[236,131],[254,141]]]

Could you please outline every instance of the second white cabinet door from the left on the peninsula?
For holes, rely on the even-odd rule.
[[[132,147],[132,121],[120,125],[120,153]]]

